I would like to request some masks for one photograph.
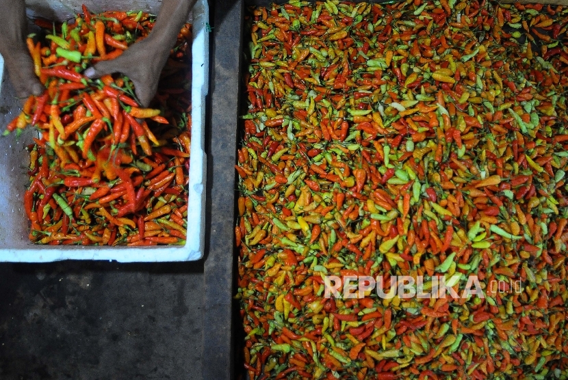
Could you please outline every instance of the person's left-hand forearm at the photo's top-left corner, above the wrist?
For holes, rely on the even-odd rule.
[[[10,59],[16,45],[25,44],[27,22],[24,0],[0,0],[3,21],[0,23],[0,53]]]

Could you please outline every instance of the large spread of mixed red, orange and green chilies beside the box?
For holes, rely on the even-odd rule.
[[[247,22],[248,377],[567,379],[568,9],[294,0]],[[324,298],[326,275],[457,295],[475,275],[485,297]]]

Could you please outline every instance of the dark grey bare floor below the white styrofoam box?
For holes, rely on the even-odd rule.
[[[0,264],[0,379],[201,379],[203,261]]]

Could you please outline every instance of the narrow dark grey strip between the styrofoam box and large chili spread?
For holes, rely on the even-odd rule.
[[[211,8],[211,1],[209,2]],[[233,332],[240,326],[233,301],[235,273],[235,169],[239,123],[239,72],[242,1],[214,5],[210,108],[206,128],[207,210],[210,234],[205,247],[203,379],[232,379],[236,351]],[[207,232],[206,232],[207,233]],[[231,323],[231,321],[233,323]]]

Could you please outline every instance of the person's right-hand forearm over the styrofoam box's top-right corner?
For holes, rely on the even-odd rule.
[[[0,0],[3,1],[3,0]],[[149,38],[171,49],[196,0],[164,0]]]

